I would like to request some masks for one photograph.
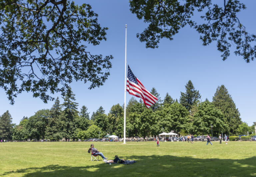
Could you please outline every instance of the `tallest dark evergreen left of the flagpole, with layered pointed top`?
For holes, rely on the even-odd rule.
[[[62,137],[65,139],[72,139],[75,131],[75,119],[78,117],[77,106],[78,103],[74,102],[75,94],[69,88],[62,104],[64,110],[60,115],[60,131]]]

